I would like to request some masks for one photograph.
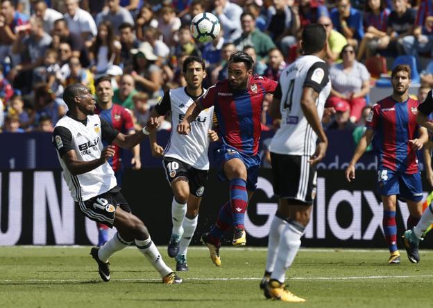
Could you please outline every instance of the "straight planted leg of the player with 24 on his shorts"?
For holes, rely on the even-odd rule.
[[[396,195],[381,196],[383,204],[382,227],[384,229],[385,240],[389,248],[389,264],[400,264],[400,252],[397,248],[397,225],[396,225]]]

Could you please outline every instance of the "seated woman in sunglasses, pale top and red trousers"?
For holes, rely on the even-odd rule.
[[[350,106],[350,121],[357,122],[366,106],[364,98],[370,92],[370,73],[364,64],[355,60],[355,47],[346,45],[341,51],[343,63],[332,65],[330,79],[332,84],[328,107],[337,106],[341,101]]]

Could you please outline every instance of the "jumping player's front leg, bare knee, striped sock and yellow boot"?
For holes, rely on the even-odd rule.
[[[235,230],[232,244],[234,246],[244,246],[246,244],[244,221],[246,207],[248,206],[246,167],[240,159],[230,159],[230,161],[224,163],[223,170],[230,181],[230,206]]]

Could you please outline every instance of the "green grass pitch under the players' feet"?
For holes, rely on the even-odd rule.
[[[174,266],[166,248],[160,251]],[[99,279],[90,248],[0,248],[0,307],[429,307],[433,252],[411,264],[387,264],[385,250],[300,250],[288,270],[290,290],[307,302],[265,300],[258,284],[266,250],[221,248],[217,268],[207,250],[189,250],[183,284],[167,286],[133,248],[111,258],[111,281]]]

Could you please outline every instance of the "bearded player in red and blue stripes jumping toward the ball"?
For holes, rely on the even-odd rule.
[[[219,247],[223,232],[235,229],[232,244],[246,244],[244,218],[248,200],[255,191],[260,166],[260,115],[264,95],[277,90],[278,83],[263,76],[253,76],[254,60],[237,51],[228,60],[228,79],[210,87],[194,102],[178,125],[178,133],[187,134],[190,123],[205,108],[214,106],[221,131],[217,159],[221,163],[219,179],[230,181],[230,201],[219,211],[216,225],[201,236],[210,249],[212,261],[221,266]]]

